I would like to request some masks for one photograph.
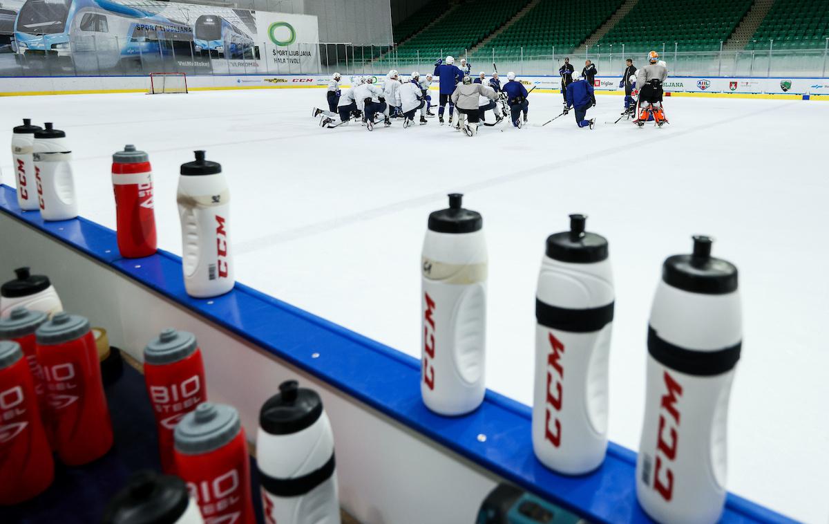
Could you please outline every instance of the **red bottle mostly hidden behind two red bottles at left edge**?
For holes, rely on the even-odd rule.
[[[55,449],[55,435],[51,431],[49,419],[49,404],[46,399],[46,382],[43,380],[43,370],[37,361],[37,345],[35,331],[46,322],[46,313],[32,311],[27,308],[14,308],[8,318],[0,319],[0,340],[11,340],[20,344],[23,357],[32,371],[32,379],[37,395],[37,410],[46,429],[46,438],[49,439],[52,449]]]

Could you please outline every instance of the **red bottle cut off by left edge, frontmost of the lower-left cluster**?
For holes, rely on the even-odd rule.
[[[34,497],[54,478],[32,372],[20,344],[0,341],[0,506]]]

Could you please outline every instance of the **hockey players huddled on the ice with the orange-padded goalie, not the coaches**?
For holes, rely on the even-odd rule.
[[[648,62],[647,66],[637,70],[633,67],[633,61],[628,60],[628,67],[619,83],[619,87],[625,89],[625,109],[619,120],[633,116],[633,122],[640,127],[647,121],[655,121],[662,127],[662,124],[667,124],[662,109],[662,83],[667,79],[667,66],[659,60],[656,51],[648,54]],[[458,120],[454,128],[463,131],[469,137],[478,133],[479,123],[494,126],[507,115],[516,128],[520,129],[526,124],[530,107],[527,96],[532,90],[528,92],[521,82],[516,81],[515,73],[507,73],[507,83],[502,86],[497,70],[488,80],[483,72],[473,80],[469,75],[471,67],[465,59],[461,60],[461,66],[458,67],[454,65],[454,58],[447,56],[445,62],[444,59],[439,59],[434,66],[434,76],[439,78],[440,125],[444,125],[444,109],[447,104],[449,124],[453,124],[454,111],[458,109]],[[574,68],[570,65],[570,60],[565,59],[565,65],[559,73],[561,94],[565,100],[564,110],[559,116],[569,114],[570,109],[574,109],[579,128],[593,129],[595,119],[586,119],[586,114],[588,109],[596,105],[593,88],[595,66],[587,61],[582,75],[574,80]],[[359,119],[361,124],[371,131],[375,124],[380,123],[381,115],[384,127],[391,125],[392,118],[403,118],[403,127],[410,128],[414,125],[414,118],[418,112],[419,124],[428,124],[426,117],[434,116],[430,110],[434,105],[431,104],[432,97],[429,95],[432,79],[433,75],[421,77],[414,71],[408,81],[403,81],[397,70],[390,70],[382,86],[375,84],[373,76],[352,76],[351,87],[341,90],[342,75],[334,73],[328,83],[328,110],[314,108],[312,114],[314,117],[319,116],[320,126],[327,129],[347,125],[352,120]],[[637,86],[640,86],[640,89],[637,89]],[[486,114],[490,110],[495,116],[494,124],[486,122]],[[340,121],[335,124],[337,116]]]

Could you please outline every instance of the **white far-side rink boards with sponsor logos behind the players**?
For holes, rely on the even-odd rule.
[[[377,81],[382,75],[374,75]],[[344,80],[348,80],[348,75]],[[405,78],[405,76],[404,76]],[[266,90],[325,88],[328,75],[188,75],[191,91]],[[558,76],[520,76],[527,90],[560,93]],[[599,95],[624,95],[618,76],[597,76],[594,88]],[[437,78],[432,89],[437,87]],[[349,87],[348,84],[342,85]],[[149,77],[138,76],[27,76],[0,78],[0,96],[90,95],[103,93],[146,93]],[[800,77],[671,77],[665,84],[669,96],[736,99],[829,99],[829,79]]]

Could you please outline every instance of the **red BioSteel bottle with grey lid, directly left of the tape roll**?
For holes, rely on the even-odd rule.
[[[35,335],[57,454],[67,466],[92,462],[112,447],[113,437],[90,321],[57,313]]]

